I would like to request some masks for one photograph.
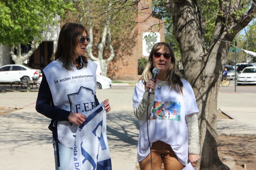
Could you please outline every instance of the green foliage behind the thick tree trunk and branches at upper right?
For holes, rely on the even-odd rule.
[[[224,4],[225,2],[222,1]],[[252,1],[244,1],[243,2],[243,7],[240,7],[234,11],[232,11],[232,6],[236,6],[236,2],[235,1],[230,1],[228,7],[229,8],[223,8],[220,9],[219,6],[219,1],[216,0],[208,0],[208,1],[197,1],[197,6],[199,9],[199,12],[201,14],[201,16],[203,17],[203,20],[206,22],[206,26],[205,26],[205,48],[206,51],[210,45],[210,42],[212,40],[212,36],[213,36],[213,32],[215,29],[215,22],[216,22],[216,18],[217,16],[223,17],[223,25],[226,25],[228,28],[228,23],[227,23],[227,17],[232,17],[235,19],[239,19],[241,16],[243,16],[248,10],[249,7],[252,5]],[[164,2],[161,0],[155,0],[154,3],[152,4],[153,7],[153,16],[157,17],[159,19],[162,19],[165,21],[165,41],[166,42],[171,42],[174,43],[174,52],[177,56],[177,59],[180,59],[180,50],[178,47],[178,43],[177,40],[175,39],[175,37],[173,36],[173,20],[172,20],[172,16],[171,13],[168,12],[168,10],[166,9],[166,7],[164,6]],[[227,9],[230,10],[230,15],[227,16]],[[251,24],[250,26],[248,26],[249,29],[253,30],[252,32],[255,34],[256,33],[256,29],[255,29],[255,24]],[[254,28],[253,28],[254,27]],[[232,28],[229,28],[228,33],[232,34],[233,30]],[[247,40],[249,40],[250,42],[253,42],[252,38],[255,38],[254,36],[248,36],[247,35]],[[249,38],[250,37],[250,38]],[[248,45],[249,43],[247,43]],[[251,46],[256,47],[255,45]]]

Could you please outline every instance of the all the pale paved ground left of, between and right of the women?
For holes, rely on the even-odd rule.
[[[135,169],[141,122],[132,109],[134,86],[98,90],[99,102],[108,98],[107,136],[113,170]],[[50,120],[35,110],[37,92],[0,93],[0,107],[24,108],[0,116],[0,170],[53,170]],[[217,109],[231,119],[217,120],[217,133],[232,136],[256,134],[256,101],[251,93],[219,93]]]

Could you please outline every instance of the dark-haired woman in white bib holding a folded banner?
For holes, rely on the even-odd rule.
[[[97,64],[84,54],[90,39],[84,26],[66,23],[59,33],[52,63],[43,69],[36,101],[37,112],[52,119],[56,170],[68,170],[76,129],[86,117],[82,114],[99,105],[96,93]],[[108,99],[104,100],[110,111]]]

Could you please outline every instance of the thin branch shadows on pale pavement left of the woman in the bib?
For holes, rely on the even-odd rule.
[[[52,142],[50,119],[39,113],[13,112],[0,117],[0,145],[7,148]]]

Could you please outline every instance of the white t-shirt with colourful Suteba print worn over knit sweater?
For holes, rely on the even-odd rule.
[[[169,86],[155,90],[155,99],[151,112],[148,113],[148,133],[150,144],[163,141],[170,144],[181,164],[187,165],[188,160],[188,132],[185,115],[198,113],[196,98],[190,84],[181,79],[183,96]],[[142,100],[145,92],[144,80],[140,80],[133,95],[133,107]],[[138,139],[138,162],[144,160],[150,153],[147,136],[147,121],[142,121]]]

